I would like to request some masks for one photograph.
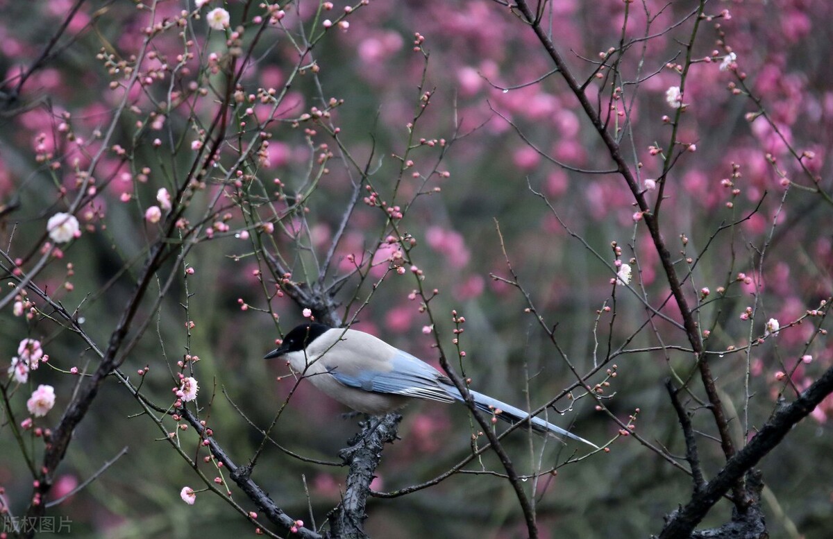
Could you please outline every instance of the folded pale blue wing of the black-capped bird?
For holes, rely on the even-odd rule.
[[[339,383],[372,393],[388,393],[403,397],[426,398],[451,403],[455,400],[446,392],[445,377],[436,368],[411,354],[397,350],[382,368],[340,369],[330,368],[330,374]]]

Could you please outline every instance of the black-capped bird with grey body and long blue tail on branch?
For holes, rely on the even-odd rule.
[[[360,413],[383,415],[414,398],[440,403],[464,402],[460,391],[436,368],[382,339],[357,329],[332,328],[317,322],[292,329],[264,359],[285,358],[297,373],[338,402]],[[469,390],[476,408],[507,423],[519,423],[529,413],[496,398]],[[598,449],[541,418],[530,418],[532,430],[566,437]]]

